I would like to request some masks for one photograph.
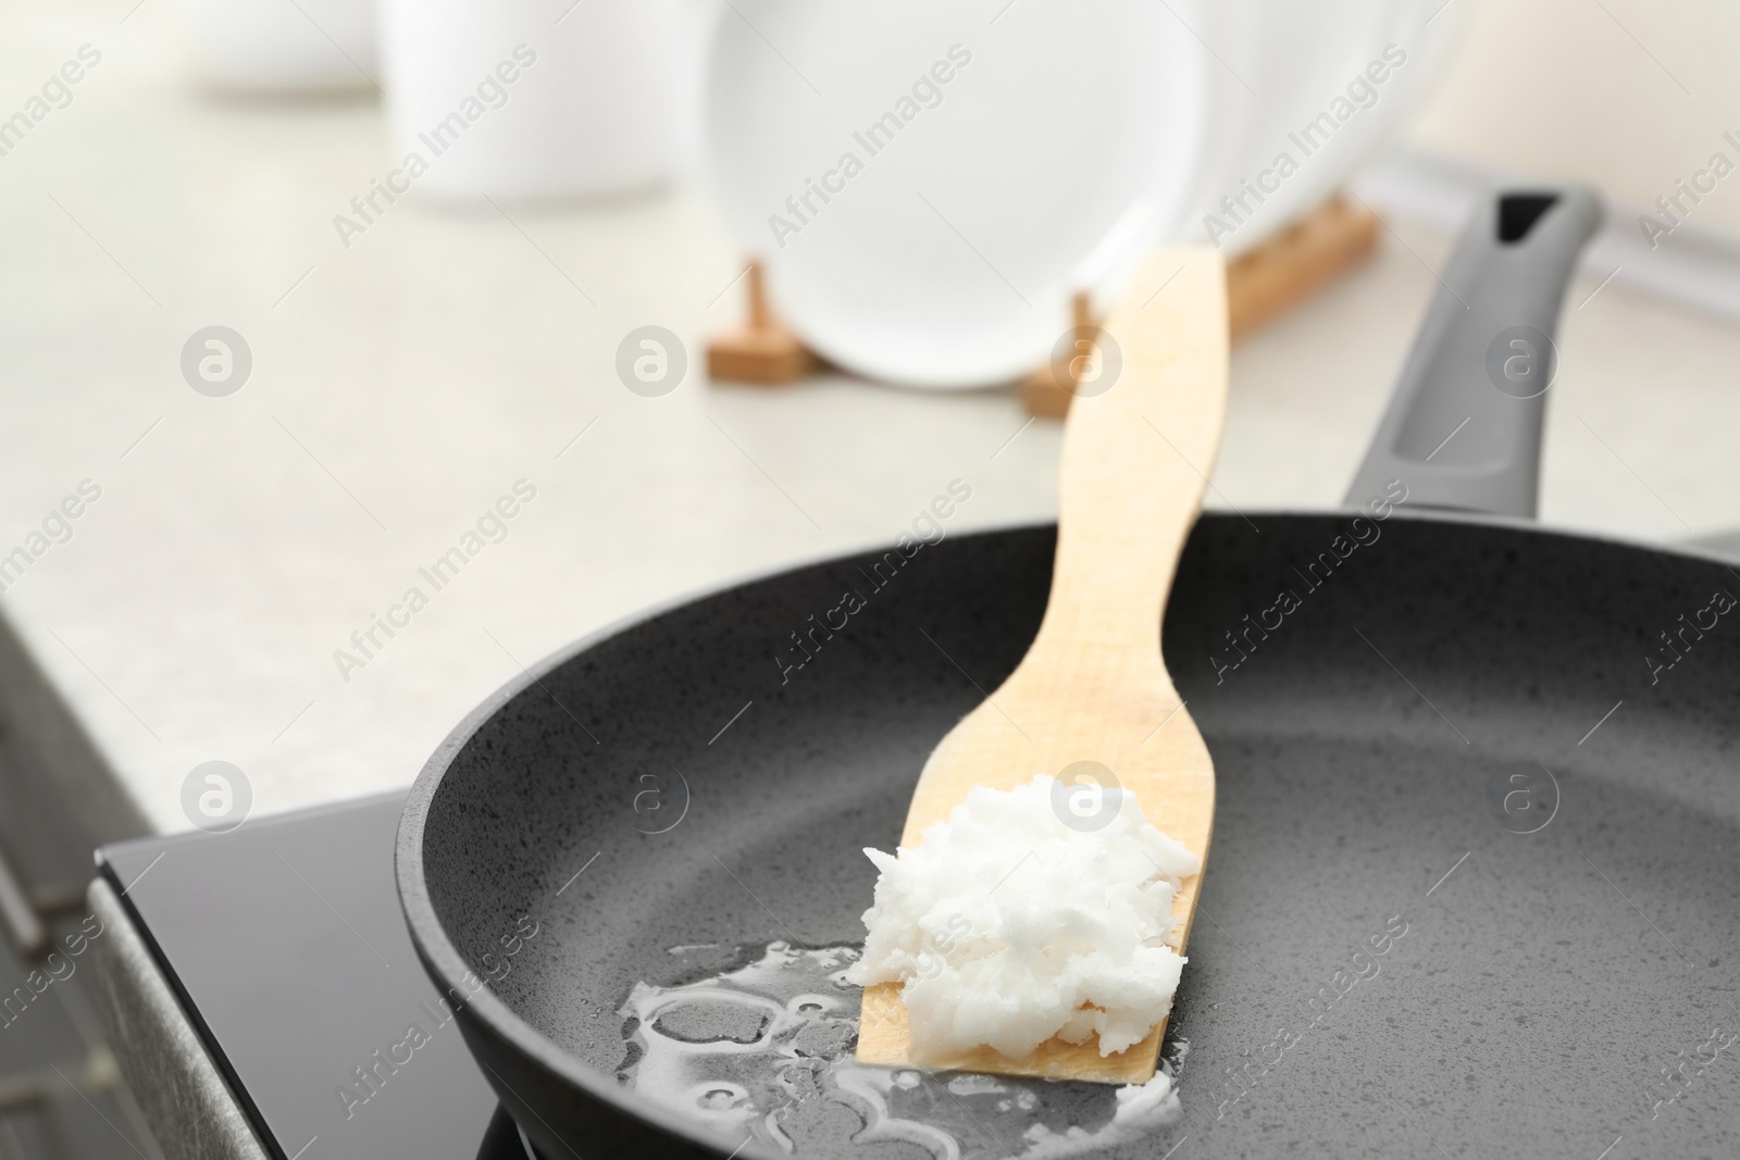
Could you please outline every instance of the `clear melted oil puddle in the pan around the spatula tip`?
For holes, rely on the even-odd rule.
[[[618,1078],[726,1137],[818,1160],[1079,1157],[1180,1118],[1183,1042],[1141,1087],[860,1064],[860,988],[844,979],[858,953],[769,943],[699,981],[637,983]]]

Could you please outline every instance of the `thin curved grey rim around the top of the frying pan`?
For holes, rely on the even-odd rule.
[[[1201,517],[1228,518],[1333,518],[1359,517],[1362,508],[1315,508],[1315,510],[1270,510],[1270,511],[1202,511]],[[1549,536],[1554,539],[1573,539],[1582,543],[1603,544],[1610,548],[1623,548],[1630,551],[1644,551],[1650,555],[1674,557],[1696,563],[1712,563],[1723,567],[1730,572],[1735,570],[1735,560],[1724,557],[1717,551],[1696,546],[1696,544],[1660,544],[1650,543],[1636,537],[1625,536],[1603,536],[1569,529],[1550,529],[1542,527],[1535,520],[1519,517],[1502,517],[1486,515],[1472,511],[1449,511],[1449,510],[1406,510],[1395,508],[1394,515],[1401,515],[1408,520],[1429,522],[1429,523],[1449,523],[1456,527],[1486,527],[1493,530],[1510,530],[1510,532],[1529,532],[1535,536]],[[1368,515],[1369,518],[1369,515]],[[1054,529],[1056,520],[1013,520],[1007,523],[994,523],[987,527],[978,527],[973,530],[964,530],[960,537],[978,537],[978,536],[1004,536],[1009,532],[1028,532],[1028,530],[1047,530]],[[879,543],[860,544],[846,551],[826,551],[816,557],[785,562],[769,569],[752,570],[748,574],[727,577],[715,584],[698,588],[677,595],[670,600],[658,602],[625,617],[619,617],[567,645],[550,652],[531,666],[524,666],[522,671],[498,687],[489,697],[485,697],[475,710],[472,710],[435,748],[430,758],[423,763],[418,772],[416,781],[405,798],[404,814],[398,819],[398,831],[395,838],[393,850],[393,871],[398,887],[400,910],[405,915],[405,925],[411,932],[411,941],[423,960],[425,967],[438,976],[438,983],[449,990],[449,993],[465,993],[465,979],[477,977],[477,974],[466,965],[465,958],[459,955],[458,948],[449,939],[440,918],[435,915],[435,906],[430,901],[428,887],[425,883],[423,873],[423,833],[428,821],[428,809],[440,788],[442,777],[452,765],[454,757],[470,743],[470,739],[513,697],[522,694],[531,685],[538,683],[545,675],[560,668],[576,656],[592,650],[593,647],[625,633],[640,624],[659,619],[661,616],[673,612],[677,609],[698,603],[701,600],[710,600],[722,593],[746,588],[762,581],[776,579],[780,576],[802,572],[821,563],[835,560],[849,560],[856,555],[877,548]],[[705,1130],[691,1127],[673,1117],[663,1113],[663,1110],[652,1101],[637,1096],[612,1082],[602,1071],[581,1063],[576,1056],[557,1045],[553,1040],[545,1037],[520,1016],[517,1016],[506,1003],[494,997],[494,993],[485,986],[480,986],[470,995],[463,1003],[470,1009],[470,1014],[484,1023],[492,1035],[506,1040],[515,1050],[522,1052],[525,1057],[532,1059],[541,1070],[552,1073],[566,1083],[585,1092],[590,1099],[609,1104],[614,1111],[633,1117],[640,1123],[652,1125],[661,1132],[677,1136],[699,1148],[720,1150],[720,1155],[731,1150],[731,1143],[720,1137],[710,1136]],[[499,1080],[499,1075],[496,1077]],[[501,1080],[506,1085],[505,1080]],[[512,1090],[512,1089],[510,1089]],[[759,1146],[743,1150],[743,1157],[771,1157]]]

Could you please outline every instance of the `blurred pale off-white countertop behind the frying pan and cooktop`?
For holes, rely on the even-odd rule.
[[[115,24],[125,9],[0,16],[5,92],[103,52],[0,157],[0,555],[80,480],[101,487],[0,610],[151,824],[188,826],[183,779],[212,758],[245,770],[256,814],[405,786],[520,663],[726,577],[891,541],[952,478],[973,487],[952,532],[1054,515],[1058,426],[1023,430],[1011,391],[705,383],[741,263],[696,193],[512,223],[402,202],[345,249],[332,216],[385,172],[378,108],[198,97],[158,59],[150,9]],[[1338,501],[1448,243],[1401,224],[1237,348],[1209,506]],[[1740,329],[1620,285],[1576,306],[1594,289],[1561,329],[1543,522],[1740,523]],[[212,323],[254,355],[228,398],[179,372]],[[647,323],[691,353],[663,398],[612,369]],[[508,536],[345,680],[334,650],[432,591],[419,565],[520,478],[538,492]]]

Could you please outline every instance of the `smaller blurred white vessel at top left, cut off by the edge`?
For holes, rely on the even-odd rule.
[[[176,0],[195,78],[231,92],[332,92],[376,83],[374,0]]]

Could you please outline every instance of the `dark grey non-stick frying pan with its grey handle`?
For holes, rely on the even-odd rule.
[[[1578,190],[1477,214],[1348,510],[1197,523],[1164,640],[1215,852],[1176,1106],[1103,1155],[1740,1155],[1740,577],[1526,520],[1597,217]],[[400,896],[545,1157],[781,1155],[625,1087],[625,1002],[861,939],[860,849],[893,849],[931,746],[1025,652],[1053,543],[947,536],[654,610],[440,746]]]

